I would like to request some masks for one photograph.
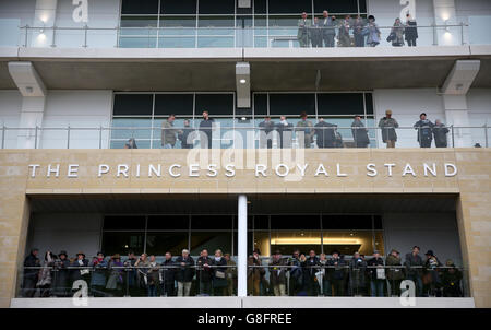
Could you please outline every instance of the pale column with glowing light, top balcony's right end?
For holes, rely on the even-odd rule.
[[[456,25],[455,0],[433,0],[434,22],[436,25]],[[460,45],[460,27],[440,27],[436,30],[438,45]]]

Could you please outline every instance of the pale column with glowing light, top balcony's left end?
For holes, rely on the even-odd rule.
[[[43,27],[29,31],[31,47],[50,47],[52,45],[53,30],[57,17],[58,0],[36,0],[33,26]]]

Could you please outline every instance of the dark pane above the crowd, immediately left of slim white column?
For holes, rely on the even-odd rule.
[[[199,256],[203,249],[207,249],[213,256],[216,249],[224,254],[231,252],[232,233],[199,232],[191,233],[191,255]]]

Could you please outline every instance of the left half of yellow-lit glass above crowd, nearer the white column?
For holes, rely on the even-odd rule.
[[[291,255],[295,249],[308,254],[314,249],[321,251],[321,231],[288,231],[271,232],[271,249],[279,250],[282,255]]]

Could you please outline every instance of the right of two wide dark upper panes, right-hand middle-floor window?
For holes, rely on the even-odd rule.
[[[363,93],[319,93],[319,115],[364,115]]]

